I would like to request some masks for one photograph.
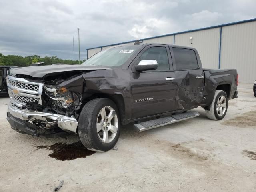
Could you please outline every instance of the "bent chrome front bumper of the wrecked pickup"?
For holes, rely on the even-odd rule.
[[[16,130],[20,130],[22,127],[28,126],[30,129],[34,130],[35,124],[32,124],[28,121],[42,121],[48,124],[57,124],[59,128],[66,132],[76,133],[78,122],[74,116],[68,117],[60,114],[52,114],[39,112],[36,110],[20,109],[16,107],[12,102],[8,104],[7,112],[10,114],[10,117],[7,116],[8,122]],[[20,120],[21,123],[18,123]],[[11,121],[11,122],[10,122]],[[26,123],[25,123],[26,122]],[[31,125],[30,125],[31,124]],[[24,129],[23,129],[24,130]],[[25,128],[25,130],[27,130]],[[30,134],[29,132],[27,132]]]

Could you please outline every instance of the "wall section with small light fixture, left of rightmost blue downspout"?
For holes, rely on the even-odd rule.
[[[192,44],[190,42],[192,37]],[[220,28],[175,35],[175,45],[196,48],[203,68],[218,68]]]

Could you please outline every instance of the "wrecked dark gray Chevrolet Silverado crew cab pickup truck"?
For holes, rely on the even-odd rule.
[[[203,69],[194,48],[140,42],[102,50],[80,66],[13,68],[7,84],[14,130],[78,134],[94,151],[113,148],[130,122],[144,131],[196,117],[187,111],[198,106],[221,120],[238,94],[236,70]]]

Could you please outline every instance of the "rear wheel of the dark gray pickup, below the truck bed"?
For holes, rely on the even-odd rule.
[[[212,120],[222,120],[228,110],[228,97],[222,90],[216,90],[210,110],[205,110],[206,116]]]

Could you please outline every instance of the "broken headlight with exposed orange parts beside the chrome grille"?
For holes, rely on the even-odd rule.
[[[60,107],[67,108],[73,105],[73,97],[69,90],[59,86],[44,86],[46,95]]]

